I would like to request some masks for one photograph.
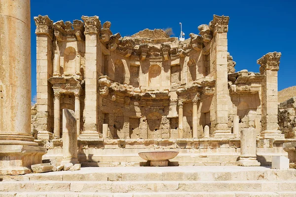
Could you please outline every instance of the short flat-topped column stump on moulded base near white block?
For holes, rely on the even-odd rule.
[[[241,131],[241,155],[238,161],[240,166],[260,166],[256,156],[256,130],[244,128]]]

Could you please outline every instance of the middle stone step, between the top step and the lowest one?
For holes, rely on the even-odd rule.
[[[296,181],[11,181],[0,192],[295,192]]]

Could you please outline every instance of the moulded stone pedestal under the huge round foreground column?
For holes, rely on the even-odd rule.
[[[0,145],[0,175],[31,173],[31,165],[42,163],[45,153],[46,149],[39,146]]]

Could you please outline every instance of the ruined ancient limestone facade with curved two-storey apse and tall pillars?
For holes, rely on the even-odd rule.
[[[259,73],[236,72],[227,52],[228,16],[214,15],[185,41],[159,29],[122,38],[98,16],[34,19],[32,125],[47,148],[44,158],[62,160],[62,109],[75,113],[82,165],[145,165],[137,153],[168,149],[179,151],[171,164],[236,165],[241,131],[248,136],[249,128],[261,165],[287,156],[278,125],[281,53],[263,55]]]

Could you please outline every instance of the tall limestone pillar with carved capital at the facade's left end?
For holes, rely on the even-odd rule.
[[[48,16],[34,17],[36,24],[36,52],[37,52],[37,119],[38,139],[53,138],[53,91],[48,79],[53,76],[53,64],[60,68],[59,55],[53,55],[53,21]],[[54,60],[53,60],[54,59]],[[59,75],[58,75],[59,76]]]

